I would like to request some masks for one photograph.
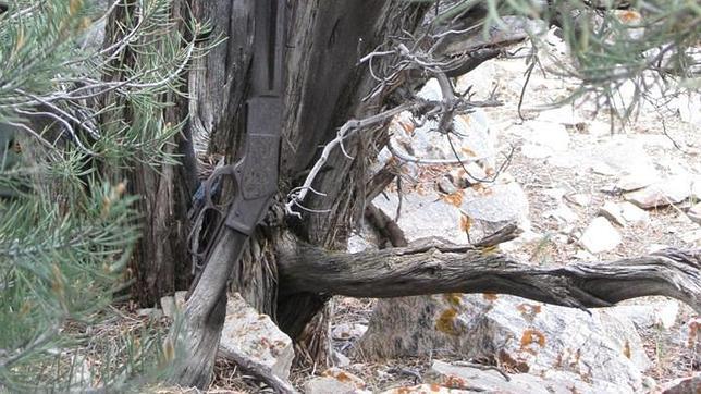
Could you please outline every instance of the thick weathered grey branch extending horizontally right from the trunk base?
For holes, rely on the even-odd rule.
[[[701,311],[701,250],[666,249],[611,262],[539,268],[490,249],[427,244],[359,254],[297,247],[281,254],[281,295],[401,297],[500,293],[575,308],[662,295]]]

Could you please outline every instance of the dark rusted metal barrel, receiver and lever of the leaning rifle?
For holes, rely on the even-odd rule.
[[[234,232],[232,247],[237,261],[246,241],[265,217],[272,197],[278,192],[283,112],[285,1],[256,0],[254,7],[254,53],[250,93],[246,100],[247,134],[244,152],[235,164],[216,169],[201,186],[205,206],[198,213],[190,233],[193,271],[196,273],[190,293],[199,281],[220,233]],[[224,176],[233,177],[237,189],[233,200],[221,209],[212,201],[212,194],[216,188],[221,188]],[[199,229],[205,216],[211,210],[217,211],[220,218],[212,223],[214,227],[208,235],[208,245],[199,251]]]

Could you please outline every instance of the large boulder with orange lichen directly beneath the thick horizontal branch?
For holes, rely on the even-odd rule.
[[[356,350],[495,359],[509,371],[577,378],[591,393],[640,391],[650,361],[635,325],[611,310],[590,311],[492,294],[382,299]]]

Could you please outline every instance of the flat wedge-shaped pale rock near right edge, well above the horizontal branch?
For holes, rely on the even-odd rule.
[[[626,200],[643,209],[679,204],[691,194],[691,182],[687,176],[673,176],[637,192],[627,193]]]

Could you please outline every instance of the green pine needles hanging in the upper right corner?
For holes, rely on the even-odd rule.
[[[701,39],[701,7],[696,0],[460,0],[434,23],[450,21],[478,4],[489,11],[485,33],[504,23],[502,15],[540,19],[562,28],[573,61],[555,59],[556,70],[551,72],[576,77],[581,85],[557,103],[593,98],[627,118],[652,89],[698,87],[698,53],[696,62],[690,56]],[[541,48],[548,45],[538,37],[533,42]],[[536,54],[530,60],[540,63]],[[632,90],[631,101],[622,100],[622,88]]]

